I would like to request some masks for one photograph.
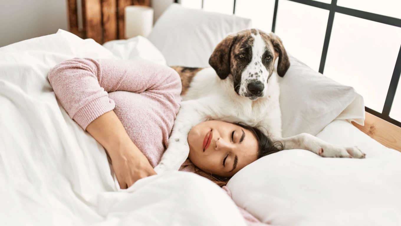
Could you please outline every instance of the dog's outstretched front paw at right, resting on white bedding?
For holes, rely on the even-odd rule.
[[[366,154],[359,150],[359,148],[356,146],[346,148],[325,146],[320,148],[318,155],[331,158],[365,158],[366,156]]]

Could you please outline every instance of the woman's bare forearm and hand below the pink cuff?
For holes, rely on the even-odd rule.
[[[86,130],[109,153],[121,189],[130,187],[141,178],[156,174],[148,159],[132,142],[114,111],[106,112],[93,120]]]

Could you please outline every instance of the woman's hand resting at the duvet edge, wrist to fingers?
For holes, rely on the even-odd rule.
[[[148,159],[136,147],[117,150],[113,157],[110,154],[110,158],[121,189],[127,189],[139,179],[156,175]]]

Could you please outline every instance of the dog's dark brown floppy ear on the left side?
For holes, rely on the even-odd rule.
[[[209,58],[209,64],[215,69],[221,79],[227,78],[230,74],[230,55],[231,47],[235,41],[236,35],[229,35],[215,47]]]

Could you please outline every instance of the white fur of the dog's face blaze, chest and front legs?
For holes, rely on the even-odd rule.
[[[285,149],[306,149],[324,157],[365,157],[365,154],[358,148],[337,147],[310,134],[282,138],[278,75],[274,70],[267,82],[269,72],[261,62],[265,43],[259,34],[255,35],[254,38],[253,58],[242,74],[240,92],[243,92],[241,91],[243,87],[247,87],[246,78],[249,72],[254,73],[262,70],[263,73],[259,79],[265,84],[263,97],[251,100],[248,97],[238,95],[234,91],[231,75],[221,80],[213,68],[205,68],[199,71],[192,79],[187,93],[182,96],[183,101],[168,141],[168,148],[155,168],[157,173],[180,168],[188,157],[187,138],[190,129],[209,119],[227,122],[240,121],[250,126],[261,126],[266,129],[264,132],[271,139],[284,143]],[[255,65],[255,62],[258,64]]]

